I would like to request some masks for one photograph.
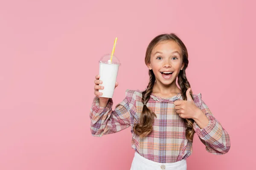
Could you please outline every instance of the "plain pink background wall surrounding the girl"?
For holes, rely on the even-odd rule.
[[[223,156],[195,135],[188,170],[240,170],[255,160],[255,3],[243,0],[9,0],[0,2],[0,170],[128,170],[130,129],[93,137],[98,59],[122,62],[113,96],[148,84],[148,43],[175,32],[187,77],[230,134]]]

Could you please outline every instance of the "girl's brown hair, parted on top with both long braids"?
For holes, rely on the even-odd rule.
[[[172,40],[175,41],[181,48],[182,50],[182,62],[184,63],[184,67],[182,70],[180,70],[180,73],[178,75],[178,84],[181,89],[181,95],[183,100],[186,100],[186,91],[187,89],[190,88],[189,81],[186,78],[186,68],[188,67],[189,60],[188,60],[188,51],[186,49],[186,46],[184,43],[180,40],[179,37],[175,34],[160,34],[157,37],[155,37],[153,40],[148,45],[148,48],[146,50],[145,54],[145,64],[148,65],[150,64],[150,58],[151,58],[151,52],[153,48],[161,41],[166,41],[166,40]],[[149,74],[149,83],[147,86],[147,89],[142,92],[142,102],[143,104],[146,104],[150,98],[150,95],[153,90],[153,86],[155,83],[155,76],[152,70],[148,71]],[[176,82],[176,81],[175,81]],[[193,99],[192,91],[190,91],[190,95]],[[154,118],[156,118],[156,114],[148,109],[146,105],[143,105],[143,110],[140,115],[140,123],[135,124],[133,127],[134,133],[139,135],[140,137],[145,137],[151,131],[153,130],[153,122]],[[186,124],[186,138],[193,142],[193,136],[195,133],[195,130],[193,129],[193,119],[184,119],[185,124]]]

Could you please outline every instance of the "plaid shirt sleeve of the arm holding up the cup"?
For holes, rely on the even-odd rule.
[[[136,94],[135,94],[136,95]],[[125,99],[112,110],[113,100],[110,98],[105,108],[99,106],[99,98],[94,97],[90,109],[90,130],[93,136],[101,137],[116,133],[131,125],[130,108],[134,107],[134,91],[126,90]]]

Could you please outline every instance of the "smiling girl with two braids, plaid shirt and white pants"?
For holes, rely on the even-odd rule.
[[[201,99],[201,93],[192,94],[185,72],[188,63],[186,46],[179,37],[158,35],[146,50],[147,88],[126,90],[125,99],[114,110],[112,99],[100,97],[98,90],[104,87],[96,76],[91,133],[102,136],[131,126],[131,147],[135,150],[131,170],[186,170],[194,133],[209,153],[229,151],[229,134]]]

